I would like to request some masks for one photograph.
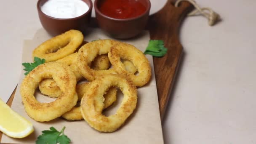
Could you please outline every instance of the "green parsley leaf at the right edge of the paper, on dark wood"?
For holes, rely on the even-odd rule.
[[[167,53],[167,48],[164,46],[163,40],[149,40],[149,45],[144,51],[144,54],[149,54],[155,57],[162,57]]]

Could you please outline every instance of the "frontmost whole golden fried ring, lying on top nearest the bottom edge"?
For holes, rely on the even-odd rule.
[[[115,115],[106,117],[101,114],[104,108],[104,93],[111,86],[123,92],[123,101]],[[91,82],[89,91],[81,100],[81,113],[85,121],[98,131],[113,132],[133,113],[137,104],[137,91],[133,82],[123,75],[109,74]]]

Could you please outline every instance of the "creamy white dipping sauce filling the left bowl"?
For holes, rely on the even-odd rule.
[[[54,18],[69,19],[83,15],[89,7],[82,0],[48,0],[41,10]]]

